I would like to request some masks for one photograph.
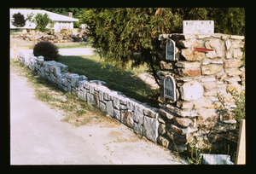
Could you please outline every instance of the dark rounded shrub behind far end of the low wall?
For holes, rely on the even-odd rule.
[[[33,49],[35,56],[43,55],[44,61],[58,61],[59,50],[55,44],[49,42],[41,42],[35,45]]]

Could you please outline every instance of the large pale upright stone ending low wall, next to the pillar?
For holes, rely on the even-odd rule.
[[[156,119],[144,117],[143,136],[146,136],[152,142],[157,142],[159,122]]]

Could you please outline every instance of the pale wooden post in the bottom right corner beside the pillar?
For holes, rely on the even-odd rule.
[[[245,136],[245,119],[241,119],[240,130],[236,148],[236,165],[246,164],[246,136]]]

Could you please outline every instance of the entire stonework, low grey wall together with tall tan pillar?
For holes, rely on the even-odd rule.
[[[175,61],[166,61],[166,39],[176,43]],[[74,91],[84,102],[105,111],[113,119],[127,125],[138,134],[160,145],[179,151],[196,140],[198,147],[211,146],[218,136],[235,129],[232,109],[236,107],[227,90],[244,90],[245,73],[241,66],[244,45],[242,36],[225,34],[166,34],[160,35],[160,109],[150,107],[106,87],[101,80],[88,80],[84,75],[68,73],[68,67],[43,56],[18,54],[18,60],[34,73],[46,78],[67,92]],[[196,52],[195,47],[214,49]],[[167,75],[175,79],[176,101],[163,97],[163,81]],[[217,93],[225,101],[228,112],[218,115]],[[175,143],[173,143],[175,142]]]

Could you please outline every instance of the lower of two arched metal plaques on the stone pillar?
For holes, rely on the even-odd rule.
[[[164,97],[176,101],[176,84],[172,76],[166,76],[164,80]]]

